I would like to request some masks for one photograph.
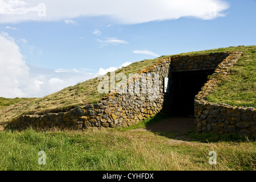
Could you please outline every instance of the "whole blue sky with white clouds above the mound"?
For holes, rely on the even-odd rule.
[[[0,97],[43,97],[162,55],[255,45],[255,32],[255,0],[0,0]]]

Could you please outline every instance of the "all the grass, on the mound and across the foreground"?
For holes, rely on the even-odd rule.
[[[222,51],[244,51],[240,61],[208,97],[214,102],[255,107],[256,46],[240,46],[183,53],[195,55]],[[162,59],[162,56],[158,59]],[[135,73],[158,60],[133,63],[117,73]],[[20,114],[43,114],[69,110],[100,100],[97,78],[70,86],[43,98],[0,98],[0,124]],[[163,119],[148,118],[125,129],[86,131],[2,131],[0,171],[5,170],[256,170],[256,142],[237,135],[138,131]],[[46,165],[39,165],[39,151],[46,152]],[[217,154],[209,164],[209,152]]]

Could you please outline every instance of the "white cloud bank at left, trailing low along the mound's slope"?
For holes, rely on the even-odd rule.
[[[98,76],[88,70],[27,65],[15,39],[0,32],[0,97],[43,97]]]

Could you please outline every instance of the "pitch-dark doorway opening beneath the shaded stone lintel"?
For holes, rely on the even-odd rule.
[[[194,99],[214,70],[172,72],[173,114],[194,115]]]

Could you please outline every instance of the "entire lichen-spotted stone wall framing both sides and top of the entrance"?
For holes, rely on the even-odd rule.
[[[77,107],[65,113],[21,115],[15,118],[10,126],[16,129],[28,126],[68,129],[130,126],[161,111],[170,112],[174,107],[172,93],[163,92],[164,77],[169,78],[171,88],[172,72],[215,69],[213,77],[195,98],[196,132],[221,134],[239,129],[241,133],[251,134],[255,131],[255,109],[217,105],[205,101],[208,94],[217,86],[220,76],[228,74],[229,68],[240,56],[241,52],[221,52],[163,59],[118,85],[113,93],[102,98],[98,104]],[[136,84],[140,86],[137,87]],[[147,90],[148,87],[152,89]]]

